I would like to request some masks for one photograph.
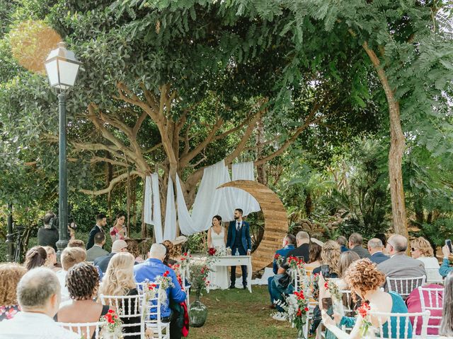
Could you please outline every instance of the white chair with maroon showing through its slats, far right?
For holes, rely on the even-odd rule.
[[[437,311],[442,314],[442,300],[444,296],[444,289],[442,287],[418,287],[418,294],[420,295],[420,304],[422,312],[430,311],[430,314],[434,314]],[[430,316],[427,327],[432,329],[432,334],[428,335],[428,338],[437,338],[440,322],[442,316]]]

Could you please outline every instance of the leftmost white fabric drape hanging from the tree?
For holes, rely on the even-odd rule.
[[[149,225],[154,225],[154,237],[156,238],[156,242],[163,242],[159,174],[157,173],[147,176],[145,181],[144,222]]]

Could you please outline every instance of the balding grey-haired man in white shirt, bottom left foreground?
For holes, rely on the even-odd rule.
[[[0,339],[80,339],[52,319],[59,305],[59,283],[49,268],[25,273],[17,286],[17,299],[21,312],[0,322]]]

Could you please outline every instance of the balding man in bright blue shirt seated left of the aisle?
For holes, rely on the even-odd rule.
[[[169,304],[179,304],[180,302],[185,301],[185,292],[181,290],[181,287],[178,283],[178,278],[176,278],[176,273],[174,270],[165,266],[162,261],[166,255],[166,248],[162,244],[153,244],[149,250],[149,255],[147,261],[139,263],[134,266],[134,278],[137,283],[144,283],[145,280],[150,282],[154,281],[157,276],[164,275],[166,271],[169,272],[168,277],[171,278],[173,287],[168,287],[166,290],[168,303],[162,305],[161,315],[162,321],[170,322],[170,338],[171,339],[180,339],[181,338],[181,328],[178,326],[178,311],[170,309]]]

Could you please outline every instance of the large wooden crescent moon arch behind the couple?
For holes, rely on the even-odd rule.
[[[256,201],[260,204],[264,215],[264,234],[258,248],[252,254],[252,267],[253,271],[261,270],[272,263],[275,251],[281,248],[282,239],[288,232],[288,218],[285,207],[274,191],[259,182],[236,180],[227,182],[217,189],[224,187],[242,189],[256,198]]]

